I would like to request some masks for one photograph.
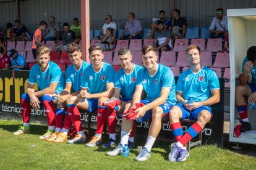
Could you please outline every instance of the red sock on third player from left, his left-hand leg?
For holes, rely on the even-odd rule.
[[[67,114],[69,115],[70,120],[74,124],[75,131],[77,132],[83,131],[82,124],[81,124],[81,116],[77,106],[67,105]]]

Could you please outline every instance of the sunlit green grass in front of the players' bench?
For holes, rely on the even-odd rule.
[[[168,142],[156,141],[151,158],[134,161],[132,150],[128,158],[106,156],[108,148],[85,147],[84,144],[54,144],[40,140],[47,127],[32,124],[32,134],[14,136],[20,121],[0,120],[0,169],[254,169],[256,158],[231,152],[214,145],[192,148],[184,163],[167,160]],[[107,136],[105,136],[105,141]],[[146,139],[138,139],[137,145]],[[35,145],[32,147],[32,145]]]

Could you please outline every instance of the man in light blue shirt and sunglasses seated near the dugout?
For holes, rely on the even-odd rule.
[[[223,15],[223,9],[216,9],[216,17],[211,21],[209,31],[211,38],[222,38],[225,39],[228,34],[228,17]]]

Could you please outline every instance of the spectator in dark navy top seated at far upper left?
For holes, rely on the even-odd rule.
[[[22,25],[20,20],[15,20],[14,23],[14,38],[12,38],[12,41],[30,41],[31,35],[26,26]]]

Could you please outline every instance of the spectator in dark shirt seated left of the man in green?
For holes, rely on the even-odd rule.
[[[79,38],[75,38],[75,33],[74,31],[69,30],[69,24],[64,23],[63,24],[63,30],[59,36],[59,40],[63,41],[63,45],[61,44],[56,44],[54,47],[54,51],[67,51],[67,44],[69,43],[78,43]]]

